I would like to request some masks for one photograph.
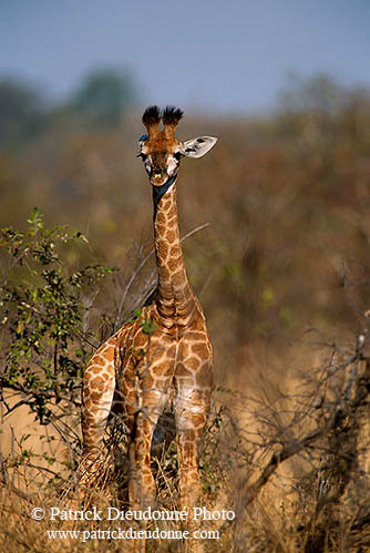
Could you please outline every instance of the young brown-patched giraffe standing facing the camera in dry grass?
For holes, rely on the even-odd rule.
[[[114,396],[131,436],[129,494],[135,509],[155,500],[151,444],[168,400],[175,411],[181,506],[196,505],[201,495],[197,452],[209,409],[213,354],[203,309],[184,265],[176,180],[181,158],[202,157],[217,139],[179,142],[175,127],[182,115],[175,107],[166,107],[161,114],[157,106],[147,107],[143,114],[147,135],[140,139],[138,156],[153,190],[158,273],[154,300],[143,307],[141,317],[124,325],[97,349],[83,380],[80,481],[88,485],[99,472]],[[155,330],[145,332],[144,321],[151,321]]]

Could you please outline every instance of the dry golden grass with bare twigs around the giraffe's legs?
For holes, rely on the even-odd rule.
[[[204,541],[205,551],[314,553],[370,547],[367,347],[354,345],[341,358],[339,352],[337,357],[329,352],[309,381],[296,376],[295,382],[286,382],[286,390],[284,383],[278,387],[265,380],[264,390],[254,397],[215,391],[201,453],[204,506],[209,512],[234,511],[236,516],[202,522],[202,530],[219,532],[219,540]],[[167,511],[178,509],[174,451],[171,446],[153,461],[157,509]],[[3,551],[130,551],[132,543],[82,542],[81,536],[109,528],[125,530],[132,522],[49,521],[50,508],[68,510],[72,505],[75,510],[76,505],[71,504],[70,483],[55,485],[41,474],[39,471],[35,478],[27,460],[18,465],[9,459],[4,462]],[[126,509],[122,487],[124,477],[110,473],[106,485],[93,490],[91,505],[103,512],[107,506]],[[47,510],[45,520],[31,519],[35,506]],[[145,528],[168,531],[181,526],[160,521]],[[48,530],[75,530],[80,537],[54,539],[51,545]],[[168,540],[148,540],[146,545],[148,552],[184,547]]]

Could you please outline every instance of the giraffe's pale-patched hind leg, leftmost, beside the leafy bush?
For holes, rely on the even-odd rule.
[[[97,359],[100,356],[96,356]],[[83,378],[82,436],[83,455],[79,467],[80,489],[86,489],[102,474],[105,455],[103,437],[115,389],[113,362],[99,366],[91,359]]]

